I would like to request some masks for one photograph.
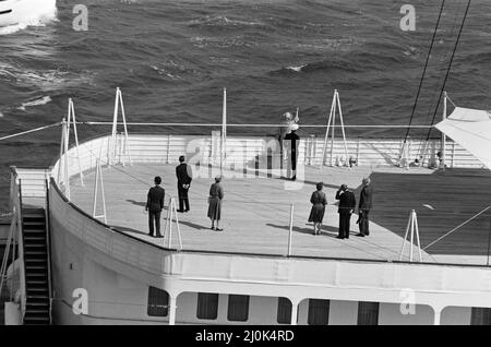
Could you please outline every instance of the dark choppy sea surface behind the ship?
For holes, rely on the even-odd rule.
[[[276,123],[299,107],[301,123],[325,124],[337,88],[345,123],[407,124],[441,1],[410,1],[416,32],[403,32],[399,11],[407,2],[84,0],[88,31],[75,32],[72,10],[81,1],[58,1],[57,20],[0,31],[0,136],[60,121],[69,97],[79,120],[110,121],[117,86],[129,121],[219,122],[227,87],[231,123]],[[431,122],[466,2],[446,1],[415,124]],[[490,24],[491,1],[474,0],[446,84],[460,106],[491,108]],[[86,139],[110,129],[80,131]],[[322,130],[300,130],[309,133]],[[348,136],[403,134],[347,130]],[[0,141],[0,201],[7,201],[9,166],[49,166],[59,139],[57,128]]]

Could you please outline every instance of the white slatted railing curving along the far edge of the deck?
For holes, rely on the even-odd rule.
[[[71,147],[68,152],[69,158],[69,176],[73,177],[82,171],[92,170],[96,166],[97,158],[100,158],[103,166],[109,163],[109,144],[110,135],[97,137],[79,146],[80,163],[79,168],[77,152],[75,147]],[[122,145],[123,137],[117,136],[116,158],[113,163],[125,161],[128,159],[124,154],[119,151]],[[311,166],[320,166],[322,157],[322,147],[324,140],[315,136],[303,137],[299,145],[299,164]],[[398,163],[403,140],[397,139],[347,139],[348,154],[358,160],[360,166],[394,166]],[[331,144],[330,144],[331,145]],[[408,152],[409,159],[420,155],[424,145],[423,140],[409,140]],[[202,135],[149,135],[149,134],[130,134],[129,152],[133,163],[146,164],[175,164],[178,163],[180,155],[188,155],[189,158],[194,157],[201,164],[217,164],[219,161],[219,136],[202,136]],[[278,155],[278,146],[276,139],[273,136],[228,136],[227,137],[227,163],[247,163],[251,160],[265,159],[267,148],[272,147],[272,153]],[[424,165],[436,161],[436,153],[440,151],[440,140],[431,140],[427,145],[423,158]],[[483,165],[464,147],[455,142],[446,142],[445,163],[451,168],[481,168]],[[345,147],[343,141],[334,142],[334,160],[345,158]],[[330,165],[330,155],[324,158],[324,165]],[[61,186],[64,184],[63,175],[58,174],[60,160],[51,169],[51,176],[56,178]],[[32,180],[25,180],[31,174],[25,172],[24,180],[27,184],[26,189],[31,189],[36,193],[34,181],[40,181],[40,174],[34,172]],[[37,177],[39,176],[39,177]],[[59,179],[58,179],[59,178]],[[33,183],[31,186],[31,183]],[[39,192],[40,193],[40,192]]]

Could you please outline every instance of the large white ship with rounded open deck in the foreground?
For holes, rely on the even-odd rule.
[[[465,147],[445,140],[442,158],[440,139],[404,145],[399,139],[348,133],[327,141],[307,134],[294,182],[282,178],[276,139],[226,135],[224,127],[240,127],[227,125],[225,109],[223,123],[206,128],[221,131],[202,136],[129,132],[117,109],[111,134],[76,139],[72,146],[77,122],[69,117],[52,167],[13,168],[11,196],[23,236],[17,238],[23,322],[34,316],[57,324],[490,323],[491,180]],[[417,148],[424,147],[423,165],[400,165],[402,145],[407,158],[419,157]],[[356,157],[355,166],[346,153]],[[171,204],[180,155],[194,171],[185,214]],[[428,167],[432,161],[436,168]],[[216,175],[224,177],[224,232],[209,230],[206,219]],[[163,239],[147,236],[144,214],[154,176],[163,177],[167,191]],[[347,183],[358,195],[364,177],[375,188],[371,236],[338,240],[335,191]],[[314,236],[307,218],[319,181],[330,205],[323,231]],[[45,224],[41,214],[27,219],[36,211],[46,212]],[[46,230],[37,239],[44,243],[32,248],[29,222]],[[48,279],[32,279],[45,268]],[[40,291],[49,294],[46,310],[34,304],[43,298],[33,292]]]

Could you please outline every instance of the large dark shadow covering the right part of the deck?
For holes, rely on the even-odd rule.
[[[491,172],[447,169],[432,175],[372,172],[371,220],[404,237],[409,212],[418,216],[421,248],[491,205]],[[402,179],[403,178],[403,179]],[[361,187],[357,189],[357,196]],[[488,255],[491,210],[426,251],[445,255]]]

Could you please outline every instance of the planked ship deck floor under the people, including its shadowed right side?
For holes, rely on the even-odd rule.
[[[287,181],[278,178],[230,177],[225,172],[223,186],[223,232],[209,229],[206,217],[207,195],[213,177],[194,178],[190,190],[191,211],[180,213],[179,225],[183,250],[218,251],[285,255],[288,248],[290,204],[295,204],[291,254],[357,260],[395,261],[399,258],[409,213],[416,210],[421,248],[448,232],[484,207],[491,205],[491,174],[482,169],[452,169],[446,172],[427,168],[409,170],[381,166],[325,167],[323,170],[306,167],[303,182],[294,190],[285,189]],[[236,172],[237,174],[237,172]],[[142,240],[166,247],[167,239],[147,235],[147,215],[144,213],[146,193],[153,178],[160,176],[168,198],[177,198],[175,165],[115,166],[103,168],[108,225]],[[359,198],[361,179],[370,177],[374,187],[374,206],[371,211],[371,235],[355,235],[357,215],[351,218],[351,237],[339,240],[335,192],[347,183]],[[310,195],[315,183],[323,181],[328,206],[320,236],[312,235],[308,216]],[[71,181],[71,200],[92,215],[94,172],[86,172],[84,187],[77,176]],[[100,207],[100,196],[98,206]],[[98,213],[100,208],[98,210]],[[167,211],[163,212],[161,229]],[[490,211],[451,234],[422,252],[423,261],[486,265],[490,241]],[[172,227],[172,248],[177,248],[176,226]],[[408,252],[404,260],[408,259]],[[415,249],[416,250],[416,249]],[[415,252],[415,259],[417,253]]]

